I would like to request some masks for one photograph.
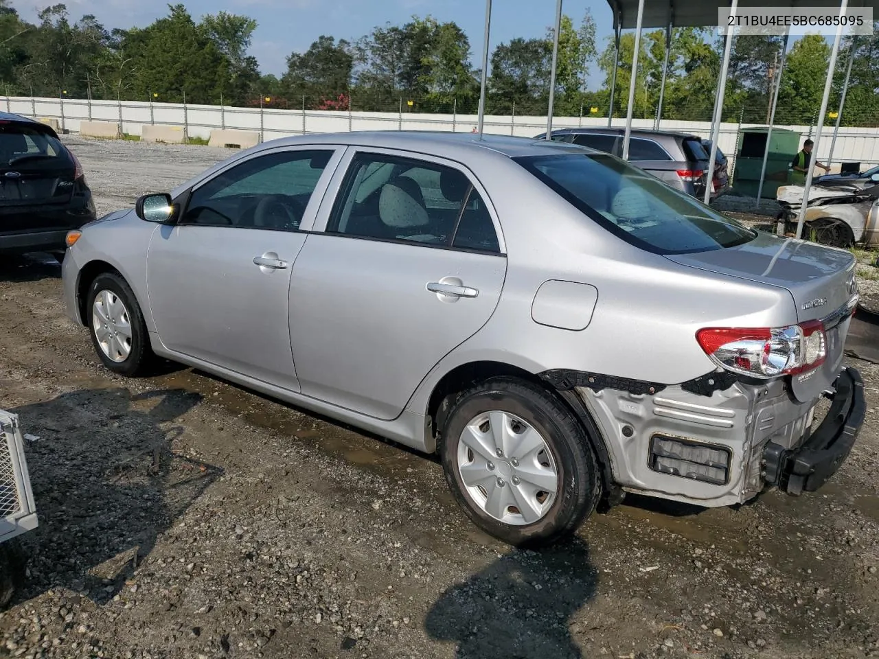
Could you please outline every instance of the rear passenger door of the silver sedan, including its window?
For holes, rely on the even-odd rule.
[[[504,285],[503,238],[459,164],[366,148],[345,161],[294,265],[296,372],[303,394],[392,419],[488,322]]]

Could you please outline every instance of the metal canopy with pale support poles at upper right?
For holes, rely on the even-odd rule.
[[[674,27],[707,27],[711,25],[718,25],[718,12],[721,9],[725,9],[729,7],[730,15],[736,16],[740,10],[746,8],[763,8],[766,6],[766,0],[729,0],[729,2],[718,2],[717,0],[713,0],[712,2],[705,2],[705,0],[701,0],[701,2],[688,2],[683,4],[675,4],[674,0],[607,0],[607,4],[610,6],[611,11],[614,15],[614,42],[615,42],[615,50],[616,50],[616,66],[619,66],[619,43],[620,43],[620,31],[625,29],[636,29],[635,36],[635,49],[632,57],[632,72],[631,72],[631,90],[635,88],[635,81],[637,77],[637,67],[638,67],[638,56],[640,54],[640,50],[638,44],[640,42],[641,31],[643,28],[648,29],[656,29],[656,28],[665,28],[666,30],[666,39],[665,39],[665,62],[663,64],[663,88],[665,88],[665,76],[668,68],[668,51],[671,46],[671,38],[670,33],[672,28]],[[848,8],[856,9],[856,8],[871,8],[874,11],[879,8],[879,0],[774,0],[775,7],[786,7],[791,10],[796,10],[798,8],[826,8],[828,10],[828,14],[837,14],[839,16],[843,16],[846,14]],[[825,123],[825,116],[827,112],[827,104],[830,99],[830,92],[832,89],[833,83],[833,74],[836,69],[836,61],[837,56],[839,54],[839,42],[842,39],[843,33],[843,25],[839,25],[836,30],[836,38],[833,41],[833,47],[831,50],[830,62],[827,67],[827,75],[825,79],[825,89],[824,96],[821,100],[821,109],[818,112],[817,118],[817,128],[814,139],[814,149],[812,153],[815,154],[814,157],[817,158],[818,153],[818,142],[821,138],[822,129]],[[709,176],[713,174],[716,156],[717,156],[717,138],[720,133],[720,124],[722,119],[723,112],[723,97],[724,92],[726,91],[726,79],[727,72],[729,70],[730,64],[730,50],[732,47],[732,40],[735,38],[735,28],[727,31],[725,36],[725,43],[723,47],[723,60],[721,62],[721,73],[720,79],[717,85],[717,96],[715,99],[715,109],[714,116],[711,121],[711,154],[708,158],[708,168],[709,168]],[[557,34],[556,34],[557,39]],[[783,68],[783,54],[787,52],[787,44],[788,37],[785,37],[785,48],[782,51],[782,68]],[[851,69],[851,61],[852,55],[854,54],[854,49],[852,54],[849,56],[849,70]],[[611,84],[611,102],[610,107],[608,108],[607,113],[607,123],[610,126],[611,121],[613,119],[614,114],[614,92],[616,86],[616,68],[614,68],[613,75],[614,82]],[[778,101],[778,92],[780,89],[780,81],[781,81],[781,69],[779,69],[778,80],[776,81],[774,87],[774,93],[772,94],[772,118],[771,122],[774,122],[774,113],[775,113],[775,104]],[[839,114],[842,113],[842,105],[845,103],[845,96],[848,87],[848,73],[846,72],[846,83],[845,88],[843,90],[842,101],[840,103]],[[662,113],[662,98],[663,92],[665,90],[660,90],[659,94],[659,106],[657,107],[657,119],[654,123],[654,126],[658,127],[659,120],[661,118]],[[628,141],[629,136],[631,134],[632,128],[632,112],[633,112],[633,102],[632,102],[632,93],[629,93],[629,102],[626,114],[626,133],[623,138],[623,148],[622,153],[623,157],[628,159]],[[770,127],[771,130],[771,127]],[[839,130],[839,118],[837,120],[837,125],[833,131],[833,141],[836,141],[836,134]],[[769,149],[769,140],[768,136],[766,139],[766,151],[764,153],[764,164],[763,168],[766,169],[766,157],[768,156]],[[814,164],[810,167],[810,170],[806,174],[806,182],[803,186],[803,205],[800,208],[800,214],[797,219],[796,226],[796,237],[800,238],[803,235],[803,221],[805,219],[806,208],[807,208],[807,200],[809,199],[810,187],[812,184],[812,177],[814,173]],[[713,177],[712,177],[713,178]],[[761,183],[762,183],[762,176]],[[762,185],[761,185],[762,187]],[[759,192],[760,193],[760,192]],[[757,203],[759,204],[759,193]],[[705,198],[704,202],[708,204],[708,200],[711,196],[711,185],[710,179],[708,185],[705,186]]]

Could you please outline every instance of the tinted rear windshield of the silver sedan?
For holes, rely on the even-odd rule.
[[[570,204],[628,243],[657,254],[721,250],[757,232],[607,154],[514,158]]]

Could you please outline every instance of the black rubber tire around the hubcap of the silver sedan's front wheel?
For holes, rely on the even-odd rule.
[[[98,343],[98,337],[95,328],[92,327],[92,308],[98,293],[109,291],[119,298],[127,310],[128,321],[131,326],[131,345],[127,357],[122,361],[113,361],[109,358],[101,345]],[[134,292],[128,286],[125,279],[113,272],[105,272],[98,275],[89,286],[87,297],[87,306],[85,308],[86,322],[89,326],[89,334],[91,334],[91,344],[95,348],[101,362],[107,369],[113,373],[119,373],[127,377],[138,377],[151,373],[151,368],[156,363],[156,356],[153,354],[149,345],[149,332],[147,323],[143,320],[141,306],[134,297]]]

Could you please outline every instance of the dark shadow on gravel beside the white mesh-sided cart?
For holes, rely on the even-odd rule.
[[[39,436],[26,457],[40,526],[22,536],[30,576],[19,600],[65,588],[104,604],[121,590],[222,473],[171,450],[184,429],[166,424],[200,401],[181,390],[90,389],[10,410]]]

